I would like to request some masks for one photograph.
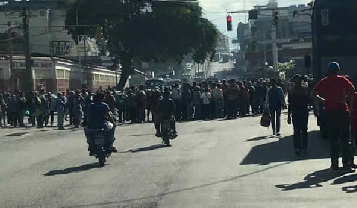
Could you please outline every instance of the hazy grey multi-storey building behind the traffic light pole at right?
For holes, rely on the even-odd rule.
[[[296,72],[306,74],[301,59],[312,51],[311,7],[306,5],[278,7],[277,1],[269,1],[267,5],[254,6],[251,12],[257,13],[256,18],[250,19],[247,24],[239,24],[237,28],[241,58],[246,60],[241,63],[245,64],[247,74],[252,78],[266,76],[267,69],[273,65],[273,10],[278,11],[278,62],[293,60],[296,69],[299,69]]]

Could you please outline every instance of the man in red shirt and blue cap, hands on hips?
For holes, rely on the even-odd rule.
[[[352,171],[349,166],[348,136],[350,126],[349,106],[354,102],[355,87],[344,76],[339,76],[340,65],[337,62],[328,64],[329,75],[323,78],[312,91],[311,95],[325,104],[328,137],[331,141],[331,170],[338,169],[338,137],[342,147],[342,163],[344,171]]]

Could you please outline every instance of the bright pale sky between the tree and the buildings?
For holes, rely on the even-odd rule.
[[[230,38],[237,36],[236,28],[239,22],[245,22],[244,14],[232,14],[233,31],[227,31],[227,12],[244,10],[243,0],[198,0],[205,12],[206,18],[212,21],[217,28]],[[245,10],[250,10],[254,5],[266,5],[269,0],[245,0]],[[307,4],[311,0],[278,0],[278,6]],[[246,14],[248,19],[248,14]]]

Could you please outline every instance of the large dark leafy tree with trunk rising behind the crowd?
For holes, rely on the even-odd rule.
[[[78,34],[94,37],[101,30],[111,56],[122,65],[119,88],[133,73],[134,58],[180,63],[192,53],[194,60],[202,63],[215,53],[218,31],[202,17],[198,3],[75,0],[70,4],[66,25],[76,25],[77,8],[80,24],[100,27],[69,27],[69,33],[77,40]]]

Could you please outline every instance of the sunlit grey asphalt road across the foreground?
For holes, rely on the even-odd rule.
[[[283,115],[286,119],[286,115]],[[125,124],[98,168],[81,129],[1,129],[1,208],[345,208],[357,174],[331,173],[328,143],[310,118],[309,155],[260,117],[178,124],[162,147],[153,124]]]

